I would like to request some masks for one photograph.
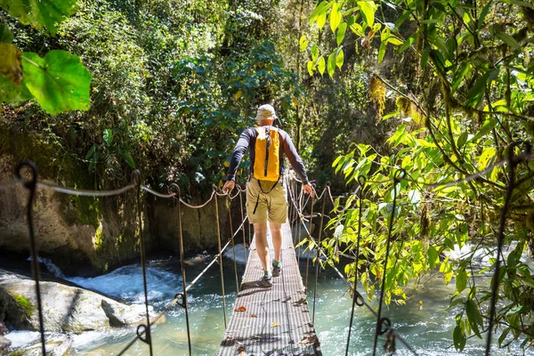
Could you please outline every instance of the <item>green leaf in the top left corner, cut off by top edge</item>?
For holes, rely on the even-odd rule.
[[[56,24],[75,12],[77,0],[0,0],[0,7],[24,25],[48,29],[55,35]]]

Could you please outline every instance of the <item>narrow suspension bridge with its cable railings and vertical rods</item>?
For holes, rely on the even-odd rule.
[[[513,148],[509,150],[509,155],[507,158],[501,160],[500,162],[486,168],[484,171],[477,174],[467,176],[461,180],[455,182],[439,182],[439,183],[425,183],[417,182],[421,185],[426,185],[428,187],[443,187],[459,184],[461,182],[469,182],[473,179],[481,177],[483,174],[488,174],[495,166],[509,166],[508,174],[508,186],[506,195],[506,201],[504,206],[501,209],[500,217],[500,228],[498,231],[498,254],[497,254],[497,271],[499,271],[499,261],[501,250],[503,248],[504,240],[504,229],[506,225],[506,214],[507,207],[509,205],[510,197],[512,191],[514,190],[514,167],[519,165],[522,162],[531,160],[532,154],[530,150],[526,153],[521,153],[519,155],[514,154]],[[263,273],[260,263],[258,261],[258,256],[255,253],[255,241],[251,240],[250,229],[248,229],[248,240],[246,233],[246,224],[247,224],[247,215],[244,214],[243,209],[243,192],[240,187],[237,187],[237,193],[235,195],[228,195],[221,193],[216,187],[214,187],[211,197],[200,206],[191,206],[189,203],[182,199],[182,193],[178,185],[171,184],[169,186],[168,192],[160,193],[156,190],[150,189],[142,184],[141,174],[139,171],[135,170],[132,174],[132,182],[125,187],[119,190],[77,190],[66,187],[61,187],[59,185],[54,185],[50,183],[40,182],[37,176],[37,169],[35,164],[32,162],[25,161],[20,164],[16,169],[17,179],[9,182],[0,182],[0,189],[2,190],[12,190],[15,186],[23,186],[28,190],[28,202],[27,202],[27,221],[28,221],[28,237],[29,237],[29,250],[32,257],[31,269],[32,275],[35,279],[35,290],[36,290],[36,309],[39,320],[39,332],[40,332],[40,344],[42,349],[42,354],[47,355],[46,353],[46,337],[44,334],[44,318],[43,318],[43,303],[41,297],[41,289],[39,287],[40,283],[40,271],[38,264],[38,251],[36,248],[36,234],[34,231],[33,223],[33,207],[36,200],[36,191],[37,190],[53,190],[61,194],[77,195],[77,196],[91,196],[91,197],[107,197],[107,196],[117,196],[121,194],[128,194],[134,192],[135,194],[135,208],[137,215],[138,223],[138,240],[139,240],[139,253],[142,266],[142,276],[143,276],[143,291],[144,291],[144,304],[146,306],[146,320],[144,323],[140,324],[136,330],[135,335],[132,336],[132,339],[129,343],[125,344],[123,350],[117,352],[117,355],[123,355],[136,343],[144,343],[147,345],[147,353],[152,356],[154,354],[153,350],[153,338],[152,332],[157,330],[152,330],[152,325],[155,324],[159,319],[162,318],[172,308],[176,305],[180,306],[184,310],[185,314],[185,328],[187,329],[188,336],[188,347],[189,354],[192,355],[191,348],[191,337],[190,337],[190,315],[189,315],[189,302],[187,293],[191,287],[194,287],[195,284],[201,279],[208,269],[210,269],[215,263],[218,263],[221,271],[221,286],[222,286],[222,295],[223,295],[223,318],[226,331],[222,335],[222,342],[220,345],[219,355],[239,355],[239,356],[251,356],[259,354],[269,354],[269,355],[322,355],[320,350],[320,340],[315,334],[315,302],[317,298],[317,276],[320,271],[320,263],[316,261],[314,263],[315,270],[315,283],[314,286],[308,286],[308,276],[310,273],[310,254],[311,248],[308,248],[307,254],[308,258],[306,259],[306,268],[305,268],[305,277],[301,276],[301,271],[299,270],[299,263],[301,253],[295,254],[295,244],[298,242],[297,237],[301,235],[301,229],[305,230],[305,235],[307,235],[307,240],[310,241],[310,246],[315,250],[314,254],[319,258],[321,255],[326,255],[321,247],[321,235],[323,233],[324,226],[324,217],[325,217],[325,206],[326,202],[329,200],[330,203],[334,203],[334,198],[332,197],[329,186],[326,185],[324,190],[322,190],[320,196],[316,199],[314,197],[303,199],[303,191],[298,189],[299,185],[295,179],[286,179],[285,186],[287,189],[287,198],[289,203],[289,213],[288,221],[283,225],[283,242],[282,242],[282,262],[284,263],[284,268],[279,277],[274,278],[274,284],[271,288],[266,289],[264,287],[259,287],[256,283],[257,280],[261,278],[261,273]],[[397,183],[409,180],[406,177],[406,173],[402,170],[398,170],[392,177],[394,194],[392,200],[392,215],[389,219],[389,235],[387,239],[387,248],[386,256],[384,261],[384,271],[388,263],[388,256],[390,255],[390,242],[391,242],[391,231],[392,224],[395,217],[395,205],[396,198],[398,194]],[[359,178],[359,224],[358,224],[358,241],[356,243],[357,251],[352,256],[352,259],[358,265],[358,259],[360,256],[360,233],[361,233],[361,212],[363,206],[363,193],[366,184],[371,183],[380,183],[380,182],[366,182],[364,177]],[[416,182],[416,181],[411,181]],[[164,199],[173,199],[175,204],[178,206],[178,222],[179,222],[179,239],[180,242],[180,261],[181,261],[181,270],[182,270],[182,290],[177,291],[174,299],[166,304],[166,307],[163,308],[160,312],[155,315],[150,315],[149,312],[149,291],[147,287],[146,279],[146,249],[142,239],[142,206],[141,206],[141,195],[142,192],[146,194],[152,194],[158,198]],[[239,227],[234,230],[231,224],[231,239],[226,241],[223,245],[221,239],[221,228],[219,221],[219,211],[218,211],[218,199],[226,198],[234,200],[239,198],[239,206],[241,223]],[[216,211],[216,227],[218,232],[218,254],[214,256],[214,259],[207,264],[206,269],[200,272],[194,279],[187,283],[186,275],[186,266],[184,264],[184,255],[183,255],[183,237],[182,237],[182,219],[181,219],[181,208],[182,206],[188,206],[189,208],[198,209],[200,207],[206,206],[210,202],[214,202],[215,211]],[[313,213],[314,205],[316,202],[322,201],[321,212],[320,214]],[[309,206],[308,206],[308,203]],[[230,222],[231,210],[229,209]],[[304,211],[309,210],[309,214],[304,214]],[[306,228],[306,225],[303,222],[307,222],[309,226],[312,226],[312,220],[314,218],[319,218],[319,232],[318,239],[312,237],[311,231]],[[310,229],[311,230],[311,229]],[[292,231],[294,232],[292,234]],[[296,232],[296,233],[295,233]],[[233,249],[233,261],[234,261],[234,271],[236,275],[237,291],[239,292],[233,308],[233,315],[231,320],[227,322],[227,307],[225,300],[225,291],[224,291],[224,278],[223,278],[223,252],[230,247],[235,247],[236,239],[238,235],[241,235],[239,239],[242,239],[244,246],[249,246],[251,253],[247,259],[247,268],[243,278],[241,279],[241,284],[239,286],[238,278],[238,269],[235,258],[235,248]],[[300,251],[300,249],[299,249]],[[272,252],[271,252],[272,253]],[[247,255],[245,255],[247,258]],[[344,274],[341,271],[338,271],[336,266],[333,263],[328,263],[328,265],[333,268],[341,279],[344,279],[347,283],[347,287],[351,291],[352,295],[352,310],[347,312],[347,325],[349,326],[348,335],[346,340],[346,345],[340,349],[338,354],[351,354],[351,333],[352,333],[352,323],[354,319],[354,309],[356,306],[365,307],[368,309],[368,312],[372,313],[376,318],[376,329],[374,332],[374,340],[369,340],[369,343],[373,344],[373,352],[375,355],[377,352],[382,353],[380,350],[383,350],[383,353],[393,353],[397,349],[397,344],[402,344],[401,347],[405,351],[417,355],[417,352],[404,340],[404,338],[399,334],[399,332],[393,327],[392,320],[384,317],[383,305],[384,305],[384,281],[382,280],[382,287],[378,293],[378,306],[371,306],[366,298],[364,298],[358,291],[358,279],[354,278],[352,281],[346,279]],[[496,308],[496,295],[498,293],[497,278],[494,278],[495,282],[492,286],[492,296],[490,304],[490,320],[488,328],[488,337],[487,337],[487,347],[486,355],[490,354],[491,350],[491,336],[494,332],[493,323],[495,317],[495,308]],[[304,280],[304,282],[303,282]],[[313,288],[313,294],[311,289]],[[309,293],[308,293],[309,292]],[[308,300],[307,295],[313,295],[312,300]],[[312,311],[310,311],[310,308]],[[379,345],[381,343],[381,345]]]

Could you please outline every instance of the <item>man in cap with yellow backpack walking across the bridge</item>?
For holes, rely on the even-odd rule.
[[[254,224],[256,250],[263,267],[263,279],[260,282],[263,287],[271,287],[271,277],[279,276],[282,269],[281,226],[287,219],[286,190],[282,186],[282,174],[285,170],[284,154],[303,182],[303,190],[313,195],[313,188],[308,181],[303,161],[296,152],[291,138],[283,130],[272,126],[275,118],[277,116],[271,105],[265,104],[258,108],[256,119],[260,126],[247,128],[239,137],[239,142],[231,155],[227,182],[223,186],[225,193],[233,190],[239,163],[245,150],[248,149],[251,179],[247,183],[247,214],[249,222]],[[268,264],[267,221],[274,247],[272,272]]]

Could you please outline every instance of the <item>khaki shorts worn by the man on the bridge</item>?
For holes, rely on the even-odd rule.
[[[262,189],[258,182],[261,182]],[[278,182],[271,190],[275,182],[258,181],[252,178],[247,182],[247,214],[250,223],[286,223],[287,219],[287,198],[286,190],[282,182]],[[265,194],[262,192],[268,192]],[[258,206],[256,206],[256,202]],[[254,213],[255,209],[255,213]]]

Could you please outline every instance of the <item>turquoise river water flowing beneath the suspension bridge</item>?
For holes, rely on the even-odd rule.
[[[202,271],[209,260],[196,258],[186,267],[186,279],[194,279]],[[226,289],[226,311],[230,319],[233,302],[236,296],[234,265],[229,259],[224,259],[224,279]],[[311,274],[314,272],[310,265]],[[244,272],[244,264],[238,264],[238,276]],[[305,271],[305,261],[301,261],[301,269]],[[142,303],[144,300],[142,289],[142,273],[138,264],[122,267],[108,275],[94,279],[69,279],[77,284],[124,299],[129,303]],[[156,311],[161,311],[174,295],[182,290],[182,278],[177,258],[169,257],[153,260],[149,263],[148,283],[150,303]],[[310,292],[308,300],[310,310],[313,309],[314,278],[308,281]],[[476,337],[467,341],[464,352],[456,352],[452,346],[452,331],[456,325],[456,312],[445,312],[449,306],[449,295],[454,291],[452,285],[445,286],[442,279],[432,279],[425,291],[409,299],[407,305],[391,305],[384,309],[384,316],[392,320],[392,325],[399,334],[420,355],[483,355],[484,339]],[[351,315],[351,298],[346,293],[347,286],[335,272],[320,271],[317,300],[316,300],[316,329],[324,355],[344,355],[347,340],[349,319]],[[223,296],[219,267],[214,264],[200,279],[188,295],[190,312],[190,332],[194,355],[216,355],[224,333]],[[423,307],[419,308],[419,301]],[[355,310],[350,344],[351,355],[368,355],[372,352],[373,333],[376,319],[365,307]],[[25,333],[17,336],[17,343],[28,341]],[[16,336],[16,335],[15,335]],[[117,355],[129,341],[134,339],[135,329],[86,332],[72,336],[74,340],[73,354],[86,355]],[[158,356],[188,354],[187,329],[185,314],[182,307],[175,305],[166,314],[166,322],[154,326],[152,331],[154,354]],[[17,344],[15,344],[17,345]],[[378,352],[382,354],[384,338],[379,339]],[[403,346],[397,342],[399,355],[409,355]],[[146,355],[148,345],[137,341],[126,355]],[[534,352],[522,352],[515,346],[509,350],[495,348],[492,355],[534,355]]]

